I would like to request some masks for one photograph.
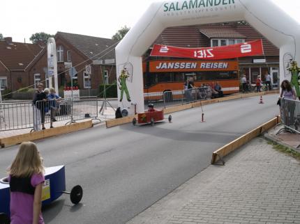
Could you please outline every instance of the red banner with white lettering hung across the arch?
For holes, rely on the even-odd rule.
[[[183,48],[153,45],[150,56],[218,60],[263,55],[262,40],[253,40],[222,47]]]

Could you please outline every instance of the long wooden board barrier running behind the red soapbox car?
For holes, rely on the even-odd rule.
[[[218,102],[225,102],[227,100],[241,99],[241,98],[246,98],[246,97],[255,97],[255,96],[274,94],[274,93],[279,93],[279,92],[278,92],[278,90],[272,90],[272,91],[269,91],[269,92],[246,93],[246,94],[232,95],[232,96],[229,96],[229,97],[209,99],[209,100],[204,100],[204,101],[201,101],[201,102],[193,102],[193,103],[190,103],[190,104],[183,104],[183,105],[179,105],[179,106],[171,106],[171,107],[167,107],[167,108],[163,109],[163,112],[165,114],[174,113],[174,112],[183,111],[183,110],[186,110],[186,109],[195,108],[195,107],[198,107],[198,106],[204,106],[204,105],[214,104],[214,103],[218,103]],[[118,125],[124,125],[124,124],[132,122],[133,118],[137,118],[137,115],[128,116],[128,117],[125,117],[125,118],[107,120],[106,121],[106,127],[109,128],[109,127],[115,127],[115,126],[118,126]]]

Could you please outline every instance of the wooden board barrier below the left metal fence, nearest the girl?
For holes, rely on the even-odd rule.
[[[1,138],[0,145],[1,147],[8,147],[10,145],[20,144],[24,141],[34,141],[42,138],[49,138],[52,136],[67,134],[73,131],[87,129],[89,127],[93,127],[93,122],[91,120],[85,122],[79,122],[71,125],[61,126],[61,127],[54,127],[51,129],[45,129],[41,131],[33,131],[27,134],[20,134],[17,136]]]

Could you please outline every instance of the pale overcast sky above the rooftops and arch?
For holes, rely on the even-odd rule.
[[[29,42],[33,33],[57,31],[112,38],[122,26],[132,27],[153,1],[1,0],[0,33],[15,42]],[[300,22],[300,1],[273,1]]]

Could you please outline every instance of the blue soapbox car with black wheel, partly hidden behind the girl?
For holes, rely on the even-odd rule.
[[[57,200],[63,193],[70,195],[73,204],[78,204],[82,199],[82,187],[74,186],[72,191],[66,191],[65,166],[45,168],[45,182],[43,184],[42,201],[48,205]],[[10,223],[10,191],[7,177],[0,179],[0,224]]]

